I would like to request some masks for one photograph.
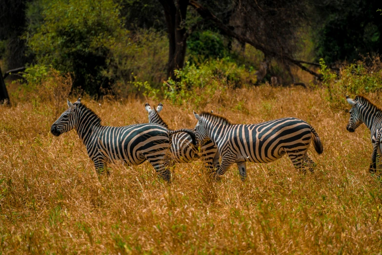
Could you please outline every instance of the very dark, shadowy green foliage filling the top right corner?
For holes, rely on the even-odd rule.
[[[380,0],[328,1],[313,9],[317,17],[317,58],[326,63],[360,60],[360,54],[375,55],[382,48]]]

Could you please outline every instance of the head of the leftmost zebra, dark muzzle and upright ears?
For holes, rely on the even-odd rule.
[[[74,104],[70,103],[69,100],[67,100],[67,104],[69,108],[64,111],[61,116],[53,123],[52,127],[50,127],[50,131],[55,136],[60,136],[60,134],[68,132],[72,130],[76,124],[76,110],[77,106],[80,104],[81,99],[79,98],[77,102]]]

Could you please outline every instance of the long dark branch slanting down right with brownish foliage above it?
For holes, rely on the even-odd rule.
[[[251,3],[251,1],[248,2]],[[245,5],[246,11],[240,15],[252,15],[256,17],[256,13],[260,12],[262,14],[259,14],[260,18],[248,21],[247,24],[250,24],[248,26],[245,26],[245,24],[240,25],[242,23],[239,22],[237,26],[241,27],[244,31],[235,30],[235,27],[224,24],[214,13],[201,5],[198,1],[190,0],[189,3],[203,19],[212,21],[225,35],[235,38],[241,43],[248,43],[254,46],[262,51],[266,57],[275,58],[281,63],[287,64],[286,67],[288,69],[289,64],[296,65],[303,71],[321,79],[322,75],[303,65],[316,65],[315,63],[296,60],[293,56],[298,49],[295,41],[298,39],[298,31],[296,31],[296,29],[301,27],[304,21],[303,6],[305,2],[303,0],[279,0],[277,4],[273,1],[266,0],[255,1],[255,3],[252,4],[248,3],[248,5]],[[241,4],[243,3],[245,3],[245,0],[241,2]],[[276,7],[272,7],[273,4],[276,4]],[[238,6],[240,6],[240,4]],[[268,9],[266,6],[268,6]],[[293,14],[294,8],[301,10],[301,12]],[[285,14],[290,13],[290,16],[285,14],[279,15],[281,12],[285,12]],[[281,17],[281,19],[277,19],[279,17]],[[290,28],[284,28],[284,25],[287,24],[289,24]],[[260,28],[258,28],[258,26],[260,26]],[[270,33],[272,33],[272,35]]]

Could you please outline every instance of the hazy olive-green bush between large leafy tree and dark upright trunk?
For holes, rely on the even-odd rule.
[[[119,97],[139,92],[139,85],[135,83],[147,83],[158,89],[166,78],[167,58],[168,39],[165,34],[153,29],[140,29],[110,48],[108,69],[103,75],[116,81],[112,91]]]

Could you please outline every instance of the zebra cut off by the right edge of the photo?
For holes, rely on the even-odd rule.
[[[346,125],[346,130],[349,132],[354,132],[362,123],[369,128],[370,140],[373,145],[369,171],[376,172],[377,153],[382,155],[382,109],[361,95],[356,96],[355,99],[351,99],[349,96],[346,96],[346,101],[352,106],[349,111],[350,117],[349,122]]]

